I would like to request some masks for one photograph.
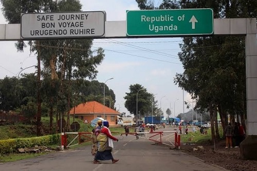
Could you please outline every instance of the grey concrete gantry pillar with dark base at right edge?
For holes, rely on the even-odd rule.
[[[246,19],[246,105],[247,137],[240,144],[243,159],[257,160],[257,39],[256,19]]]

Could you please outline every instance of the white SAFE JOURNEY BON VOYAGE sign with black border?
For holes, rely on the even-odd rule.
[[[24,13],[22,39],[104,36],[105,11]]]

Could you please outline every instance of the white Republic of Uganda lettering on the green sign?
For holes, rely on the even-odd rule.
[[[150,22],[149,24],[149,30],[154,31],[158,33],[159,31],[176,31],[178,28],[176,25],[170,24],[170,25],[164,25],[164,26],[156,26],[154,25],[155,22],[173,22],[175,20],[178,21],[184,21],[185,15],[178,16],[177,18],[174,18],[174,16],[171,15],[159,15],[159,16],[146,16],[141,15],[141,22]]]

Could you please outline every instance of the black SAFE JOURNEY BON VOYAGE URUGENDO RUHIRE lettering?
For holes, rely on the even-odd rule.
[[[95,34],[95,28],[85,28],[83,20],[88,20],[89,14],[60,14],[57,23],[53,15],[38,15],[37,21],[42,21],[40,30],[30,30],[31,36],[44,35],[87,35]],[[78,21],[80,20],[80,21]],[[46,21],[46,22],[44,22]],[[52,22],[51,22],[52,21]],[[60,29],[58,29],[58,28]],[[51,29],[49,29],[51,28]]]

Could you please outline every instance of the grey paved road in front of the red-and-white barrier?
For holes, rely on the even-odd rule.
[[[120,159],[115,164],[111,161],[94,164],[93,156],[90,154],[91,147],[85,146],[33,159],[0,164],[0,168],[4,171],[226,170],[219,166],[209,165],[178,150],[171,150],[167,146],[153,144],[143,138],[136,140],[135,136],[124,137],[123,140],[114,143],[114,158]]]

